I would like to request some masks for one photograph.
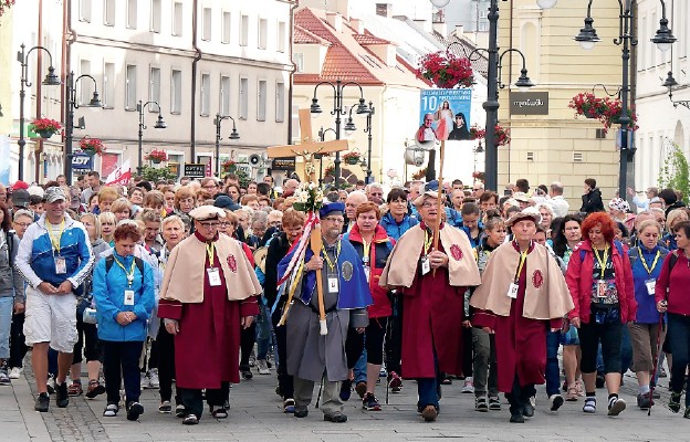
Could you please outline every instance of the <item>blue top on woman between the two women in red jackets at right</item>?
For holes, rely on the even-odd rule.
[[[657,252],[660,252],[660,255],[657,260],[657,265],[655,265],[655,267],[652,269],[651,265],[654,264]],[[657,312],[657,302],[655,301],[655,295],[649,294],[649,292],[647,291],[647,285],[645,285],[645,281],[656,281],[659,277],[663,260],[668,254],[668,250],[658,245],[655,246],[651,251],[647,250],[647,248],[645,246],[632,248],[628,251],[628,256],[630,256],[630,264],[632,264],[632,280],[635,281],[635,301],[637,301],[637,317],[635,318],[636,323],[659,323],[659,312]],[[647,270],[645,269],[641,260],[645,260],[647,266],[651,270],[651,275],[647,273]]]

